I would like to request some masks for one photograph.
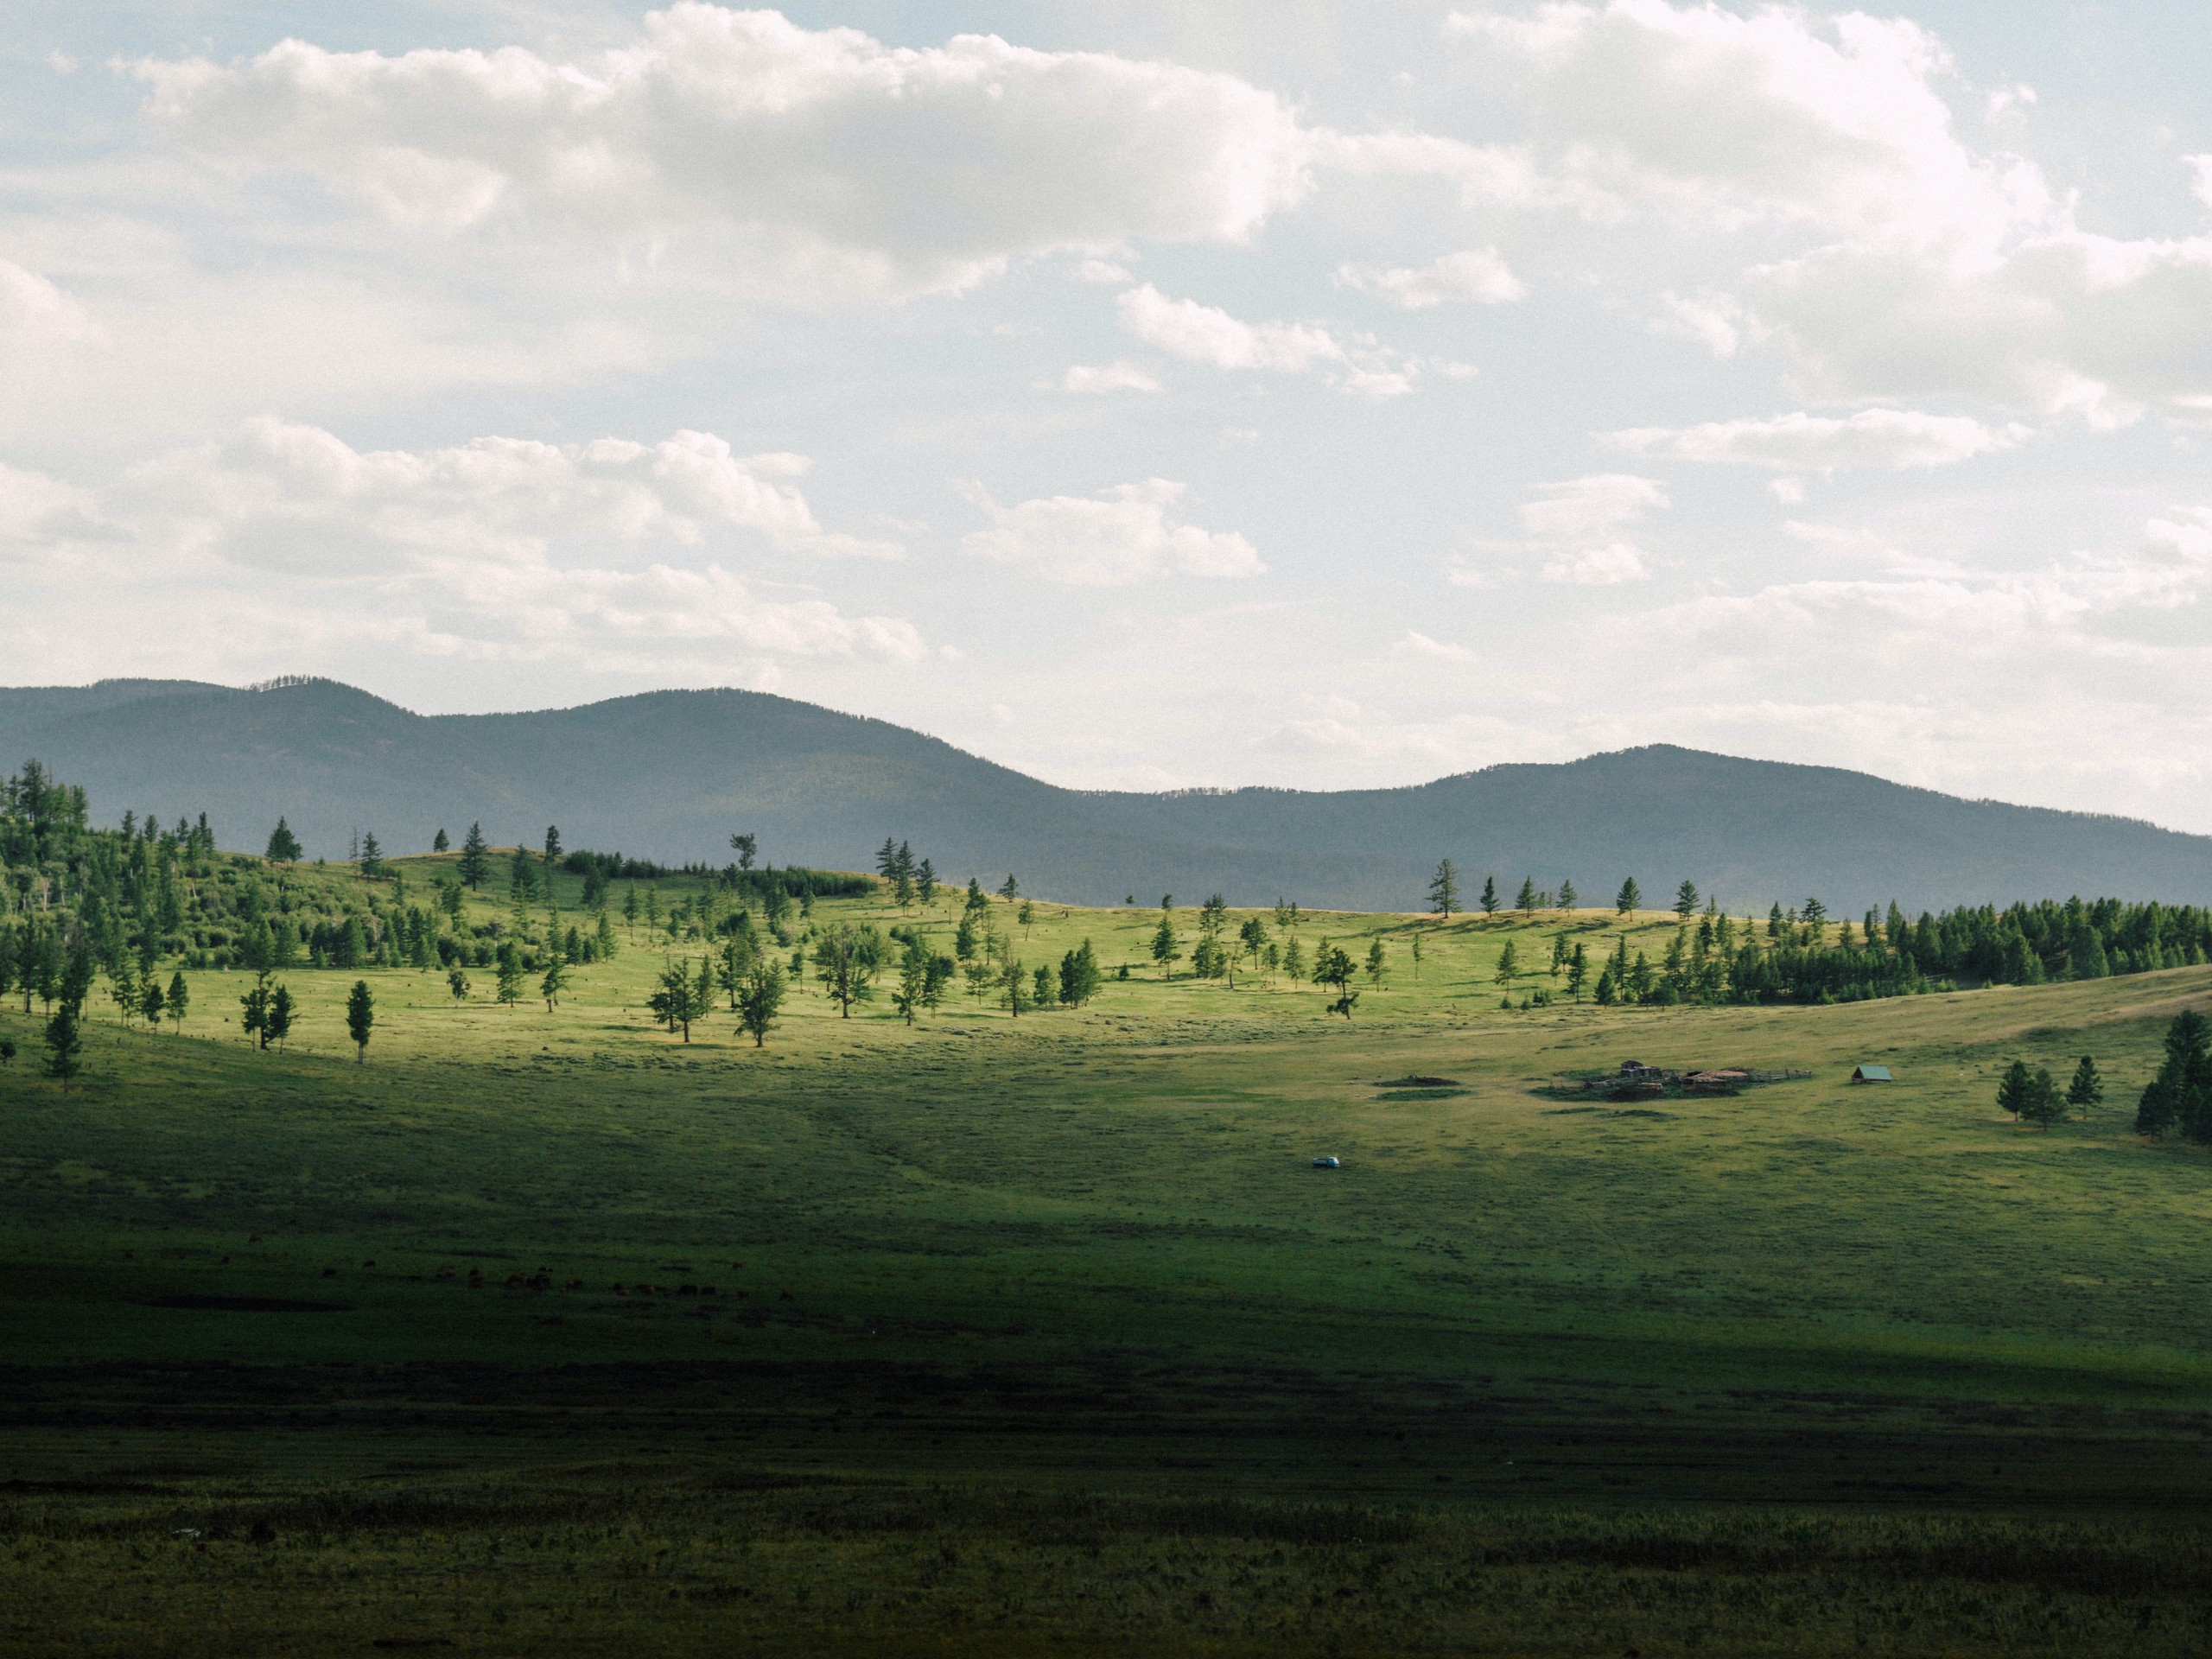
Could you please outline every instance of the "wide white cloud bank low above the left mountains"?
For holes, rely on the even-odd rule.
[[[792,482],[805,465],[737,458],[697,431],[356,451],[319,427],[254,420],[95,491],[0,471],[0,546],[104,560],[117,606],[184,573],[195,604],[294,604],[323,637],[442,655],[633,670],[717,650],[918,661],[914,624],[770,599],[723,562],[745,549],[896,553],[823,531]]]

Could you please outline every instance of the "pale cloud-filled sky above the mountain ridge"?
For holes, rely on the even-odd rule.
[[[2212,832],[2212,9],[13,0],[0,681]]]

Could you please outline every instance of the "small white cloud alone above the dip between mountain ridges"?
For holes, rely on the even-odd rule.
[[[1099,495],[1044,495],[1000,507],[982,484],[962,493],[991,526],[962,538],[969,557],[1020,564],[1084,588],[1124,586],[1155,575],[1259,575],[1259,551],[1234,531],[1175,524],[1183,484],[1148,478]]]

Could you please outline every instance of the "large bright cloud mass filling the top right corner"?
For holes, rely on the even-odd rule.
[[[1763,239],[1732,281],[1659,301],[1659,332],[1774,343],[1825,400],[2121,427],[2212,389],[2212,239],[2081,230],[2039,168],[1958,135],[1958,69],[1913,22],[1604,0],[1449,31],[1517,66],[1537,166],[1683,237]]]

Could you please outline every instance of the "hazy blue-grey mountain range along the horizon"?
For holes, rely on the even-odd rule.
[[[1062,790],[887,721],[763,692],[681,690],[529,714],[411,714],[327,679],[261,690],[197,681],[0,688],[0,770],[35,757],[102,821],[206,812],[259,852],[276,814],[310,856],[354,830],[389,852],[493,843],[659,860],[865,869],[885,836],[956,878],[1009,872],[1033,894],[1117,905],[1223,891],[1259,905],[1420,909],[1438,858],[1467,898],[1573,878],[1646,902],[1690,878],[1730,909],[1818,896],[1832,914],[2112,894],[2212,902],[2212,838],[2132,818],[1960,801],[1820,765],[1652,745],[1566,765],[1491,765],[1402,790]]]

